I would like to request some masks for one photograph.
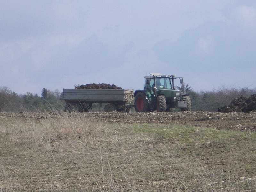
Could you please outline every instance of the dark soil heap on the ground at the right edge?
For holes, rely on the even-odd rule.
[[[229,105],[223,106],[218,109],[218,112],[228,113],[228,112],[245,112],[256,111],[256,94],[251,95],[251,97],[246,98],[240,96],[234,99]]]

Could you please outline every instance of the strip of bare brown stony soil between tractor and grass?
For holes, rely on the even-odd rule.
[[[0,113],[0,121],[5,118],[33,118],[44,120],[48,118],[74,117],[90,119],[103,123],[160,123],[160,124],[189,124],[199,127],[212,127],[215,129],[232,129],[240,131],[256,131],[256,112],[204,112],[186,111],[177,113],[151,112],[151,113],[126,113],[126,112],[94,112],[94,113]]]

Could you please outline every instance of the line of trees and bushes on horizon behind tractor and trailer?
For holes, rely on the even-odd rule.
[[[241,95],[249,97],[256,94],[256,89],[249,88],[221,87],[212,91],[194,91],[189,84],[185,83],[176,88],[190,95],[194,111],[215,112]],[[65,102],[61,101],[60,97],[61,92],[58,89],[51,91],[44,87],[41,95],[38,95],[31,92],[17,94],[8,87],[0,87],[0,112],[62,111]]]

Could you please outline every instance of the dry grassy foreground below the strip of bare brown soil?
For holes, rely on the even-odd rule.
[[[256,133],[0,119],[0,191],[255,191]]]

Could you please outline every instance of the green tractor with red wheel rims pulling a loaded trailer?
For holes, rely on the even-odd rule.
[[[181,111],[191,110],[189,95],[181,94],[181,91],[174,87],[174,79],[180,79],[182,84],[182,77],[152,73],[144,78],[144,89],[134,92],[134,107],[137,112],[170,112],[172,108],[180,108]]]

